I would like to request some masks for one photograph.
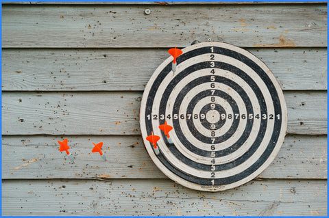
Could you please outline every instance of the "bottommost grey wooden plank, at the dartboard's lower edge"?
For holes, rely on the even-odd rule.
[[[194,191],[171,180],[3,180],[4,216],[326,216],[326,180]]]

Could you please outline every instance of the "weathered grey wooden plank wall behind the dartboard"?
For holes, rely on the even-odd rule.
[[[326,22],[325,3],[3,4],[2,215],[327,215]],[[208,38],[263,59],[289,112],[276,160],[218,193],[166,178],[138,127],[167,49]]]

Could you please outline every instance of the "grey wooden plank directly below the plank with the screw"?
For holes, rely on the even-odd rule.
[[[248,50],[283,90],[327,89],[326,49]],[[167,57],[167,49],[3,49],[2,90],[143,91]]]

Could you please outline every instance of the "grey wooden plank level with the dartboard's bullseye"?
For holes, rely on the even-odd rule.
[[[288,133],[327,133],[327,93],[284,92]],[[139,135],[141,92],[3,92],[3,135]]]

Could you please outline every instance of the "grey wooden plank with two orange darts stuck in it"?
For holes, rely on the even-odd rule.
[[[3,136],[2,178],[167,178],[149,158],[141,136],[69,135],[75,156],[58,151],[60,136]],[[103,141],[107,161],[91,152]],[[327,178],[327,137],[287,135],[282,148],[258,178]]]

